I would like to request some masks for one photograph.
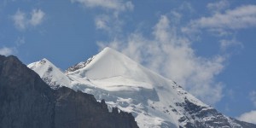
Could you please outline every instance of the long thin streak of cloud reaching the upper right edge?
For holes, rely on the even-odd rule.
[[[202,17],[190,23],[192,28],[241,29],[256,26],[256,5],[241,6],[216,13],[211,17]]]

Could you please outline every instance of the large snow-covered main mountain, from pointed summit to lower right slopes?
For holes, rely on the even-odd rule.
[[[132,113],[139,127],[256,127],[218,113],[172,80],[111,48],[69,67],[60,76],[70,80],[63,85]]]

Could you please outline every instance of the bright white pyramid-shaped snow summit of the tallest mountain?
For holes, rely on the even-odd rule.
[[[74,67],[80,67],[83,63],[85,62]],[[172,83],[172,80],[166,80],[111,48],[103,49],[90,58],[86,65],[73,72],[69,70],[67,75],[90,79],[99,88],[110,91],[153,89],[154,86],[166,84],[166,81]]]

